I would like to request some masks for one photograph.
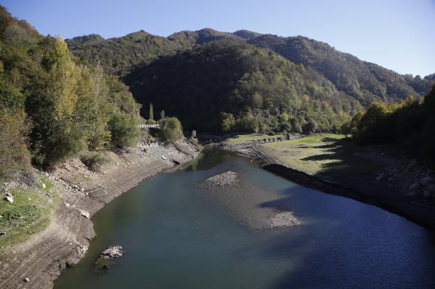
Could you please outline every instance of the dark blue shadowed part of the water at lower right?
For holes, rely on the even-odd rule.
[[[259,207],[291,211],[303,225],[275,238],[266,252],[298,256],[300,264],[271,288],[434,288],[435,248],[426,230],[372,205],[301,186],[280,194]]]

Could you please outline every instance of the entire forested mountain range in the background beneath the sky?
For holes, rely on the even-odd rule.
[[[67,43],[84,63],[101,63],[121,75],[145,106],[153,102],[188,128],[214,132],[228,126],[300,131],[304,125],[334,131],[372,102],[419,100],[433,82],[431,76],[399,75],[302,36],[246,30],[181,31],[167,38],[139,31]]]

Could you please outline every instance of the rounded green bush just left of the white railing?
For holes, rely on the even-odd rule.
[[[114,148],[134,146],[141,136],[141,130],[132,116],[116,111],[109,120],[109,130],[112,134],[110,143]]]

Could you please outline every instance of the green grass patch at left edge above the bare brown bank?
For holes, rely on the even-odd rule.
[[[0,231],[6,232],[6,235],[0,236],[0,252],[48,226],[60,198],[54,192],[52,182],[40,173],[38,178],[38,189],[13,188],[10,189],[14,198],[13,203],[8,203],[3,198],[0,200]],[[45,188],[42,183],[45,184]]]

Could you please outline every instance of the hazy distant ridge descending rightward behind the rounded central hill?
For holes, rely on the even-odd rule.
[[[247,42],[272,49],[293,63],[314,68],[339,91],[356,97],[364,105],[376,100],[399,101],[410,95],[425,95],[431,88],[431,81],[420,77],[409,79],[303,36],[283,38],[267,34]]]

